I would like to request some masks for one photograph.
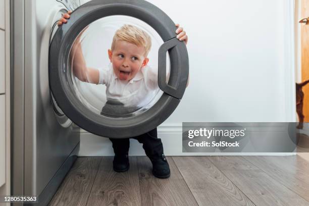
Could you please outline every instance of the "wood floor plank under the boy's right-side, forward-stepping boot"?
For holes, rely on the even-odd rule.
[[[172,158],[167,157],[171,177],[159,179],[151,173],[147,157],[138,157],[142,205],[198,205]]]

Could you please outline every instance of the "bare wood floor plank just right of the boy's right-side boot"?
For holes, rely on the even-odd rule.
[[[173,157],[201,205],[254,205],[207,157]]]

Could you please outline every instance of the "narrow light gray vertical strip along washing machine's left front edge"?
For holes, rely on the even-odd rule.
[[[36,195],[35,182],[36,182],[36,170],[35,170],[35,159],[37,154],[35,149],[37,134],[34,131],[35,124],[35,106],[36,106],[36,87],[32,86],[36,76],[35,73],[35,47],[36,41],[32,39],[33,29],[35,25],[32,21],[35,20],[35,13],[33,13],[34,1],[25,1],[24,11],[25,11],[25,33],[24,33],[24,46],[25,46],[25,67],[24,67],[24,92],[25,92],[25,102],[24,102],[24,195]],[[31,15],[28,12],[31,11]],[[39,42],[38,42],[39,43]],[[32,59],[33,58],[33,59]],[[34,183],[34,184],[33,184]]]

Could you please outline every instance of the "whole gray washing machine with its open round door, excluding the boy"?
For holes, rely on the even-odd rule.
[[[46,205],[77,158],[80,128],[129,138],[156,128],[173,113],[188,81],[188,54],[176,38],[175,23],[143,0],[83,5],[79,0],[16,0],[11,8],[12,194],[35,195],[38,202],[31,205]],[[73,11],[70,20],[58,28],[57,20],[68,10]],[[126,102],[110,104],[105,85],[82,82],[72,69],[77,41],[87,66],[107,65],[107,49],[124,24],[149,34],[148,57],[158,72],[157,89],[134,108]],[[112,113],[103,112],[106,106]]]

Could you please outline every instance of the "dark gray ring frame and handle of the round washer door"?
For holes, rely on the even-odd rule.
[[[138,18],[155,29],[163,41],[159,49],[158,84],[164,91],[147,111],[128,118],[110,118],[88,110],[75,96],[64,73],[70,48],[77,35],[91,22],[112,15]],[[188,53],[176,38],[175,23],[156,6],[142,0],[93,0],[76,9],[61,26],[49,46],[49,86],[61,110],[84,130],[110,138],[128,138],[146,133],[164,122],[182,98],[189,74]],[[170,57],[170,78],[166,83],[166,54]]]

